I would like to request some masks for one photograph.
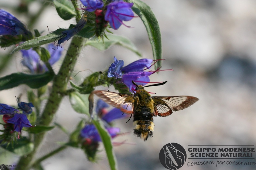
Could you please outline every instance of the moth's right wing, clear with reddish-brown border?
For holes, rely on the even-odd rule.
[[[199,99],[193,96],[152,96],[155,116],[168,116],[172,111],[178,111],[193,105]]]

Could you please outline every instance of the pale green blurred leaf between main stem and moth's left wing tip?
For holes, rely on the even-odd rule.
[[[76,112],[89,115],[88,95],[81,95],[78,92],[73,92],[69,94],[69,101]]]

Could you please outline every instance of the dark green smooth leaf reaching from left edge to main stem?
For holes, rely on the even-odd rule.
[[[31,88],[39,88],[50,82],[53,77],[54,74],[50,72],[39,75],[13,73],[0,78],[0,90],[10,89],[21,84],[28,85]]]

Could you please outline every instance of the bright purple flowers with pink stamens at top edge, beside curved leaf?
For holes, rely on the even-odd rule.
[[[123,21],[130,21],[134,17],[131,9],[133,3],[123,2],[123,0],[113,0],[105,7],[102,0],[81,0],[81,2],[86,6],[84,10],[88,12],[102,9],[105,14],[105,21],[109,22],[110,26],[115,30],[123,24]]]

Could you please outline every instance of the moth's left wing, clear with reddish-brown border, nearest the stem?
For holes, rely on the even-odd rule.
[[[96,90],[92,92],[99,96],[104,102],[112,105],[125,113],[133,113],[134,95],[109,92],[104,90]],[[129,108],[129,110],[126,110]]]

